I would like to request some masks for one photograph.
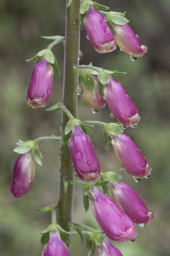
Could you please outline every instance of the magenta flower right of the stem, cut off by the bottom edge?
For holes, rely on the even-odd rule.
[[[96,247],[96,256],[122,256],[122,253],[105,238],[99,247]]]

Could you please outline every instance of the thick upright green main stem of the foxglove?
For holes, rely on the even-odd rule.
[[[79,45],[80,45],[80,0],[74,0],[66,10],[66,47],[65,47],[65,67],[64,67],[64,87],[63,87],[63,105],[76,118],[77,115],[77,70],[73,69],[79,63]],[[67,114],[62,111],[62,133],[68,121]],[[63,178],[72,180],[74,171],[71,166],[71,156],[68,145],[61,143],[60,151],[60,188],[58,199],[58,219],[57,222],[66,231],[70,231],[69,222],[72,220],[73,211],[73,185],[69,184],[67,194],[64,192]]]

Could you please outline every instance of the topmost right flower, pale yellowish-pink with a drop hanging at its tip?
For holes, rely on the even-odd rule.
[[[128,24],[117,25],[112,23],[112,25],[116,31],[116,44],[121,51],[132,56],[143,56],[143,54],[147,52],[148,47],[140,44],[137,36]]]

